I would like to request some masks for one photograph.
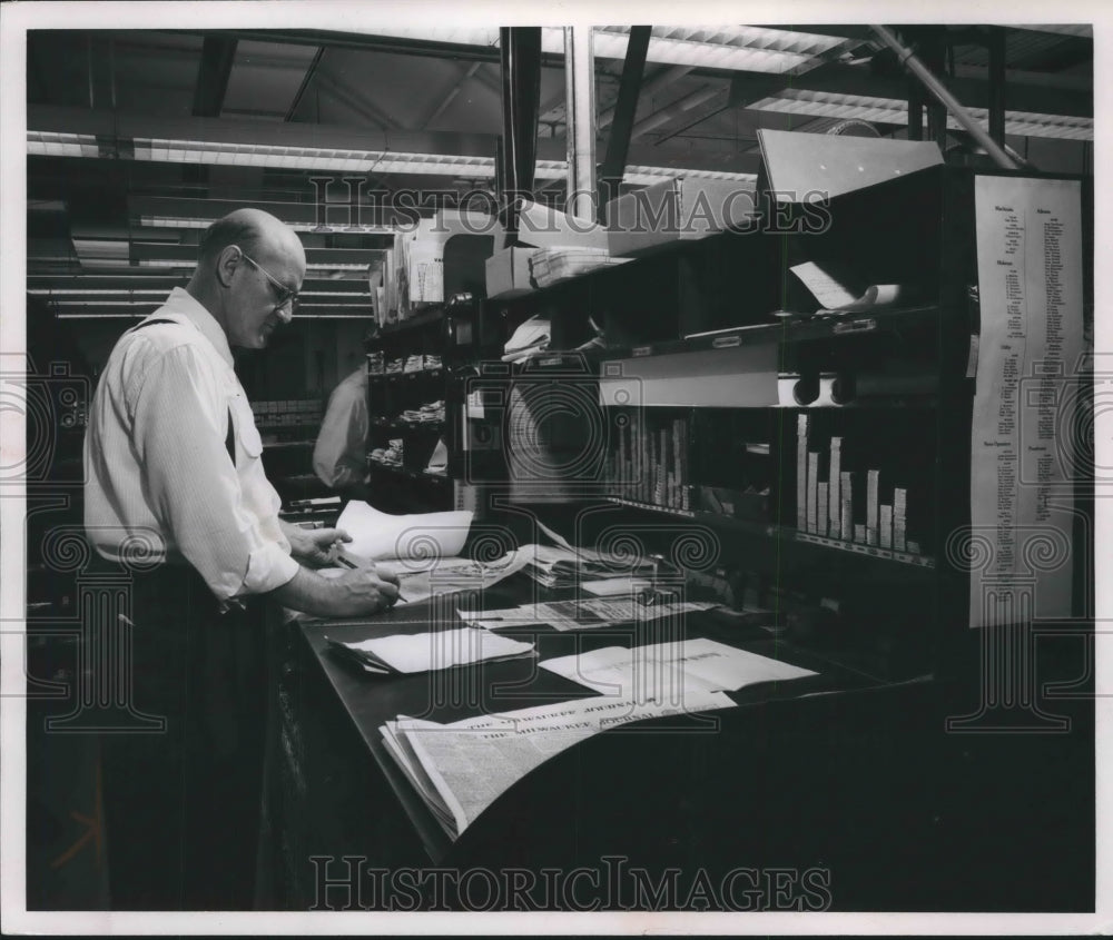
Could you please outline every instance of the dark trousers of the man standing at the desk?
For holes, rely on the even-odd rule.
[[[262,604],[218,612],[193,570],[135,578],[135,709],[101,741],[114,910],[246,910],[255,893],[266,663]]]

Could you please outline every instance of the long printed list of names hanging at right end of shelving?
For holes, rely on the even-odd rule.
[[[1071,614],[1073,482],[1066,406],[1083,352],[1076,180],[975,180],[982,336],[971,522],[971,625]],[[975,556],[978,552],[975,551]]]

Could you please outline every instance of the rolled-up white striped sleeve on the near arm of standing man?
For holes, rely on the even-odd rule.
[[[229,418],[214,366],[183,345],[158,355],[128,395],[146,498],[173,545],[226,600],[273,591],[298,571],[264,532],[225,446]]]

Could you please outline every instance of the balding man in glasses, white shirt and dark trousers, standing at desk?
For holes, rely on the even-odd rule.
[[[278,219],[215,222],[186,288],[117,343],[90,407],[87,536],[131,575],[131,708],[165,720],[102,739],[116,909],[252,903],[267,690],[264,621],[246,602],[358,616],[397,600],[373,567],[313,571],[347,536],[278,518],[233,369],[230,347],[263,348],[290,320],[304,276]]]

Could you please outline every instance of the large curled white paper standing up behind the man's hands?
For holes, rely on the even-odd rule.
[[[412,513],[394,516],[353,499],[336,527],[352,536],[344,545],[362,558],[447,558],[459,555],[472,524],[471,512]]]

